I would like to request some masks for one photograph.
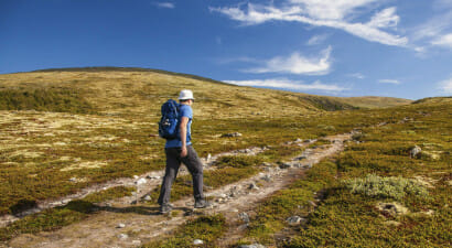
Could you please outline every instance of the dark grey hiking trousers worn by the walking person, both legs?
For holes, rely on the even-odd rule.
[[[187,155],[181,158],[181,148],[165,148],[166,169],[160,190],[159,204],[170,203],[171,185],[177,176],[181,162],[189,169],[193,179],[193,196],[203,200],[203,164],[192,145],[186,145]]]

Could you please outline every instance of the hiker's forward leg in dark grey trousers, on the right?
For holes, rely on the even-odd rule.
[[[187,155],[181,158],[182,162],[186,165],[193,179],[193,196],[196,201],[204,200],[203,194],[203,163],[197,157],[196,151],[192,145],[186,147]]]

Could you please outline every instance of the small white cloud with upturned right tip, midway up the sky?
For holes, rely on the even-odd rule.
[[[261,67],[246,69],[248,73],[291,73],[305,75],[324,75],[330,72],[332,47],[322,51],[319,57],[305,57],[298,52],[288,57],[273,57]]]

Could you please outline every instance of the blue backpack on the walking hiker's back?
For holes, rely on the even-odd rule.
[[[168,140],[179,138],[179,104],[173,99],[162,105],[159,136]]]

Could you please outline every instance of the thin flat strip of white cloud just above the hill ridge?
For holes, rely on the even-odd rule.
[[[287,78],[270,78],[270,79],[254,79],[254,80],[224,80],[229,84],[239,86],[283,88],[291,90],[323,90],[323,91],[343,91],[347,88],[337,85],[322,84],[316,80],[312,84],[303,84],[303,82],[290,80]]]

